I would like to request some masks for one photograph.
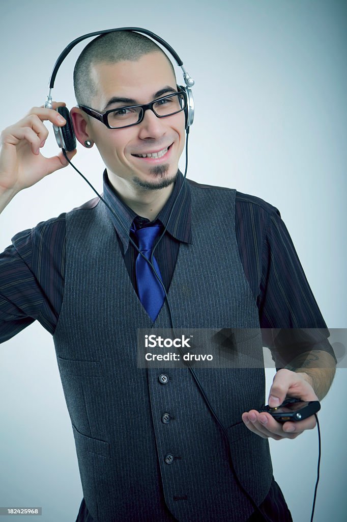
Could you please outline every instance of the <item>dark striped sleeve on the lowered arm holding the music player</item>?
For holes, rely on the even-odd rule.
[[[276,207],[267,213],[257,304],[264,346],[276,367],[314,349],[328,351],[336,361],[329,330]]]

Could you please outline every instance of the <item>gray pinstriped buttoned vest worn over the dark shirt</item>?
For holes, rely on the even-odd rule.
[[[189,184],[193,244],[180,244],[168,292],[175,326],[259,328],[238,253],[236,191]],[[102,201],[90,207],[67,213],[64,299],[54,334],[86,506],[95,522],[242,522],[253,507],[189,370],[166,369],[169,382],[161,384],[162,371],[137,368],[137,329],[152,323],[108,210]],[[166,305],[154,326],[170,328]],[[243,411],[264,404],[264,370],[196,373],[228,428],[239,479],[260,504],[272,478],[268,441],[240,421]]]

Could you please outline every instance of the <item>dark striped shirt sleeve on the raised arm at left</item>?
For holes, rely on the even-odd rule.
[[[0,254],[0,343],[36,319],[53,334],[63,300],[65,214],[19,232]]]

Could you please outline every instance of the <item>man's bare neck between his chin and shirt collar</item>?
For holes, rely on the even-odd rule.
[[[167,187],[153,190],[129,183],[110,171],[107,171],[107,176],[118,197],[135,213],[150,221],[153,221],[165,206],[176,179],[175,176]]]

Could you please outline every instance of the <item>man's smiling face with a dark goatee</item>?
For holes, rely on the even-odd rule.
[[[170,64],[159,52],[146,54],[135,62],[95,64],[91,75],[97,94],[90,106],[100,112],[149,103],[177,91]],[[113,102],[114,98],[131,101]],[[87,129],[117,186],[125,183],[158,189],[175,179],[184,148],[184,111],[158,118],[147,110],[141,123],[121,129],[109,129],[90,118]],[[161,156],[163,151],[166,153]],[[139,156],[155,152],[158,158]]]

